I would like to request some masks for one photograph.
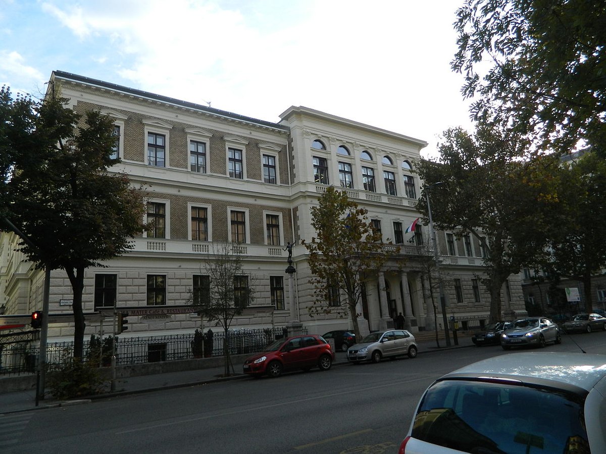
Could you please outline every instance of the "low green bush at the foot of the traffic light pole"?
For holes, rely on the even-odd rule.
[[[46,384],[55,398],[70,399],[103,392],[105,380],[95,364],[82,363],[66,350],[59,364],[48,366]]]

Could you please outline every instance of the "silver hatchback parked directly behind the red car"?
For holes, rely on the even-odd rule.
[[[354,364],[360,361],[378,363],[381,358],[393,358],[398,355],[415,358],[416,354],[415,336],[404,329],[390,329],[389,331],[371,332],[359,344],[349,347],[347,360]]]

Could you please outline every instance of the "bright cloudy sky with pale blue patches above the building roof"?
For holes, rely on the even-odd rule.
[[[0,0],[0,85],[53,70],[278,122],[305,106],[429,145],[471,130],[453,73],[462,0]]]

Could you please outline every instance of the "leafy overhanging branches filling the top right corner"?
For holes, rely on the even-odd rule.
[[[466,0],[454,28],[451,67],[465,76],[464,96],[476,97],[476,119],[539,139],[539,150],[605,152],[604,1]]]

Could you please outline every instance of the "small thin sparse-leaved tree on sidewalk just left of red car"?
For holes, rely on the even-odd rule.
[[[236,243],[220,243],[213,246],[213,254],[205,261],[203,269],[208,276],[200,289],[190,290],[188,304],[193,304],[202,318],[221,325],[225,334],[223,343],[224,375],[230,375],[229,328],[236,315],[255,300],[254,278],[242,269],[241,246]]]

